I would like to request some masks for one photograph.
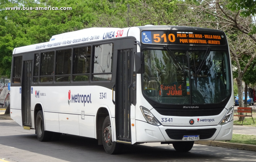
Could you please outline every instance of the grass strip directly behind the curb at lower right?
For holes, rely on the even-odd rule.
[[[227,142],[256,145],[256,135],[233,134],[231,141]]]

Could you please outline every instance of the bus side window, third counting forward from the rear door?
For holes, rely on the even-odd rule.
[[[56,82],[70,82],[72,49],[56,51]]]

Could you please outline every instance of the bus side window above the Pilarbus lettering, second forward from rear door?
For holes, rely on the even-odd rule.
[[[54,51],[41,53],[40,82],[53,82]]]

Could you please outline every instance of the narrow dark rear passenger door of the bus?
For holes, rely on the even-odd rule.
[[[22,123],[31,127],[31,66],[32,60],[24,61],[22,76]]]

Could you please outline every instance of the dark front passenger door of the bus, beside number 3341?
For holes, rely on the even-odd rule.
[[[116,80],[117,141],[131,143],[130,109],[131,65],[134,48],[118,50]],[[131,95],[130,95],[131,96]]]

